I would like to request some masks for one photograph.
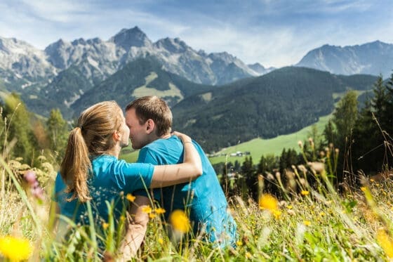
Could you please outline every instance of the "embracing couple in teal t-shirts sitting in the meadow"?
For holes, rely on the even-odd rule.
[[[142,244],[149,221],[145,210],[154,203],[165,210],[166,219],[173,211],[185,211],[194,236],[218,247],[234,245],[236,223],[213,167],[191,138],[171,134],[171,125],[171,110],[156,96],[134,100],[126,107],[126,118],[113,101],[88,107],[69,134],[55,181],[57,213],[76,225],[94,221],[102,228],[111,218],[119,225],[130,211],[120,250],[123,258],[135,256]],[[118,159],[128,138],[140,149],[138,163]],[[60,219],[59,224],[64,223]],[[64,228],[58,227],[60,237],[67,233]]]

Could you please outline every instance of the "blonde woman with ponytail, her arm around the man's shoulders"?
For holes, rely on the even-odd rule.
[[[109,202],[114,206],[116,224],[126,210],[127,194],[197,178],[202,173],[198,152],[191,138],[176,134],[185,145],[184,163],[166,166],[126,163],[118,159],[121,148],[128,145],[129,136],[119,105],[106,101],[88,107],[69,134],[55,181],[56,210],[76,224],[88,224],[89,203],[93,221],[99,225],[109,223],[106,203]]]

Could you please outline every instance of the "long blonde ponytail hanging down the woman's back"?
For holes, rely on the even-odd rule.
[[[60,166],[60,174],[67,184],[65,192],[73,193],[67,201],[77,198],[80,202],[86,202],[91,199],[87,185],[88,173],[91,171],[88,155],[81,128],[77,126],[69,133],[65,157]]]

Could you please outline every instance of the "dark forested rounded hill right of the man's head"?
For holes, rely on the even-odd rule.
[[[333,111],[333,93],[368,90],[375,79],[284,67],[185,98],[173,107],[173,126],[214,152],[239,140],[298,131]]]

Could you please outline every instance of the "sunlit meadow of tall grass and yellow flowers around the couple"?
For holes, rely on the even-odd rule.
[[[9,147],[8,147],[9,148]],[[118,247],[127,220],[114,226],[94,223],[89,209],[88,227],[75,225],[59,217],[69,233],[56,239],[48,224],[55,163],[40,156],[37,166],[22,159],[0,157],[0,257],[30,261],[114,261],[120,260]],[[34,171],[44,188],[42,198],[32,194],[24,181],[27,171]],[[301,190],[294,191],[276,183],[284,200],[265,197],[260,181],[260,201],[229,199],[229,211],[238,225],[237,247],[220,249],[196,236],[176,244],[166,234],[162,214],[149,221],[145,244],[135,261],[389,261],[393,259],[393,184],[387,178],[366,178],[361,185],[351,185],[338,194],[330,182],[332,171],[322,163],[293,166]],[[314,178],[314,185],[307,183]],[[255,181],[256,182],[256,181]],[[265,200],[268,199],[268,200]],[[267,201],[267,202],[266,202]],[[107,202],[108,208],[112,204]],[[58,228],[60,230],[60,228]],[[27,240],[30,251],[26,257],[12,256],[2,245],[6,237]],[[8,243],[15,251],[25,246]],[[7,247],[8,247],[7,246]],[[13,249],[13,250],[14,250]],[[9,249],[8,249],[9,250]]]

